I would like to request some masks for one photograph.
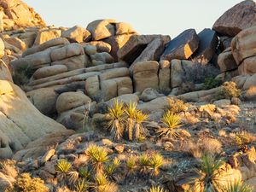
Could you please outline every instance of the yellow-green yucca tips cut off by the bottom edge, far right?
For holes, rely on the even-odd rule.
[[[223,192],[253,192],[251,186],[242,183],[241,181],[230,182],[227,185],[224,185],[221,190]]]

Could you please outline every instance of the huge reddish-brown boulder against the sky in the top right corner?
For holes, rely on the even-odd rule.
[[[234,37],[241,30],[256,24],[256,5],[251,0],[236,4],[227,10],[212,26],[222,36]]]

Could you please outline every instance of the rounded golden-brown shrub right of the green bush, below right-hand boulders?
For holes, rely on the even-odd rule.
[[[231,99],[232,97],[239,97],[241,95],[241,90],[236,86],[235,82],[225,82],[221,89],[216,94],[216,99]]]

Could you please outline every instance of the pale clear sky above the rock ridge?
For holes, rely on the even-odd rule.
[[[168,34],[211,28],[224,11],[241,0],[24,0],[55,26],[86,27],[111,18],[130,23],[140,34]]]

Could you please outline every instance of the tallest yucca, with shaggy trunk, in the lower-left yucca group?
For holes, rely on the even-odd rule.
[[[90,145],[85,154],[89,156],[89,160],[96,173],[104,172],[104,163],[108,162],[108,152],[106,148],[102,148],[96,145]]]

